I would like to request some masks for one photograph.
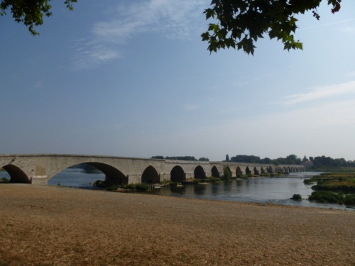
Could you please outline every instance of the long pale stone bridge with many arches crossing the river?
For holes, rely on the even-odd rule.
[[[182,182],[194,178],[221,177],[224,168],[232,177],[239,174],[303,172],[302,165],[265,165],[244,162],[160,160],[97,155],[0,155],[0,167],[11,182],[48,184],[48,180],[73,165],[87,163],[101,170],[113,184]]]

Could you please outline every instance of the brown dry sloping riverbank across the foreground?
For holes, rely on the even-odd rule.
[[[0,265],[355,265],[355,213],[0,185]]]

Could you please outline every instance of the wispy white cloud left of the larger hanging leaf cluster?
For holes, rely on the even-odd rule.
[[[73,58],[74,68],[93,68],[123,57],[123,45],[138,34],[189,38],[197,27],[192,21],[202,16],[205,7],[203,0],[146,0],[119,4],[111,9],[107,19],[93,25],[88,42],[82,40]]]

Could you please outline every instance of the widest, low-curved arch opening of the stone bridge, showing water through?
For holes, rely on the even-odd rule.
[[[128,178],[115,167],[101,162],[86,162],[72,165],[50,178],[48,184],[64,187],[92,187],[92,183],[102,180],[108,184],[127,184]]]

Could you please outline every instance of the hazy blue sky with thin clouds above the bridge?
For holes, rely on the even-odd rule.
[[[33,37],[0,17],[0,153],[355,160],[355,2],[299,16],[304,50],[209,55],[209,1],[53,3]]]

